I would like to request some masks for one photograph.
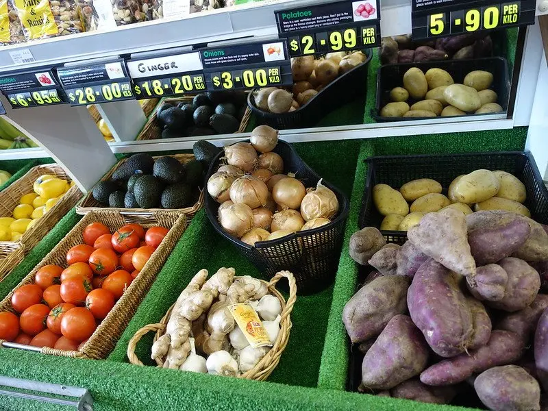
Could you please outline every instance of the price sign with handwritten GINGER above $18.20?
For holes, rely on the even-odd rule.
[[[134,82],[137,99],[179,96],[206,90],[198,52],[132,59],[127,62],[127,69]]]

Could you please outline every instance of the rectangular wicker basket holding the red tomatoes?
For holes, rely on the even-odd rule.
[[[36,271],[47,264],[57,264],[66,266],[66,251],[75,245],[83,244],[84,239],[82,234],[84,228],[90,224],[99,221],[110,228],[111,231],[118,229],[127,223],[139,223],[145,228],[154,225],[169,228],[169,232],[152,254],[151,258],[145,264],[139,275],[134,279],[132,284],[125,290],[121,299],[116,302],[114,308],[110,310],[105,319],[99,324],[95,332],[90,336],[86,344],[80,351],[65,351],[43,347],[42,353],[51,354],[53,356],[65,356],[71,358],[106,358],[110,351],[114,349],[116,341],[123,333],[127,323],[132,319],[138,305],[147,294],[150,286],[154,282],[156,275],[164,265],[173,247],[184,233],[186,229],[186,216],[179,212],[163,212],[163,213],[144,213],[137,216],[133,214],[122,214],[112,210],[99,210],[90,212],[84,216],[82,220],[75,225],[71,232],[51,250],[40,263],[16,286],[15,290],[25,284],[34,283]],[[1,311],[14,312],[12,308],[11,298],[13,291],[10,292],[0,302]],[[4,347],[10,347],[12,343],[0,340]],[[18,348],[18,347],[17,347]],[[34,348],[34,347],[33,347]]]

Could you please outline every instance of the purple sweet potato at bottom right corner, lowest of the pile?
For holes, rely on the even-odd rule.
[[[493,411],[540,411],[540,386],[516,365],[495,366],[479,374],[475,392]]]

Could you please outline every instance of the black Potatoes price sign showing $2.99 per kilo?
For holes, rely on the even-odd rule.
[[[280,10],[275,15],[279,37],[288,39],[290,57],[380,45],[378,0],[336,1]]]

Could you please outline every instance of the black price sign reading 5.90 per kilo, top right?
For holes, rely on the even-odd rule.
[[[473,34],[534,24],[535,0],[413,0],[412,38]]]

